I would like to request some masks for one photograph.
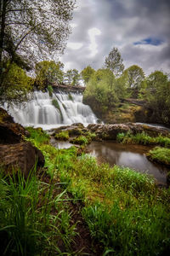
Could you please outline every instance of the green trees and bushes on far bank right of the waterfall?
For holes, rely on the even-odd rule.
[[[118,49],[113,48],[105,58],[105,65],[95,71],[88,66],[82,70],[82,79],[86,84],[83,101],[90,105],[99,118],[119,122],[122,100],[126,98],[142,99],[143,115],[140,122],[170,124],[170,80],[166,73],[155,71],[145,77],[141,67],[133,65],[124,70],[122,57]],[[128,121],[133,119],[133,113]],[[121,122],[126,119],[121,119]]]

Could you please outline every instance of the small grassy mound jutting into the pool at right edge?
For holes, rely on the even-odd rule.
[[[150,150],[147,156],[149,156],[150,160],[170,166],[170,148],[153,148]]]

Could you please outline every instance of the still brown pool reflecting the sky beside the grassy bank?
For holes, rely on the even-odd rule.
[[[144,155],[150,148],[141,145],[123,145],[119,143],[93,142],[88,146],[90,154],[99,162],[107,162],[111,166],[126,166],[137,172],[148,173],[156,178],[157,183],[167,184],[167,168],[150,162]]]

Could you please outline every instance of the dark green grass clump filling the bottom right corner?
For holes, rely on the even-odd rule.
[[[163,203],[141,202],[122,209],[120,201],[109,207],[95,204],[83,210],[91,235],[111,255],[166,254],[169,248],[168,212]],[[166,229],[165,229],[166,226]],[[165,231],[164,231],[165,229]]]

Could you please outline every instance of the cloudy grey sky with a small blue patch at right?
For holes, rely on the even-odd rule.
[[[102,68],[113,47],[125,68],[170,73],[170,0],[77,0],[65,70]]]

